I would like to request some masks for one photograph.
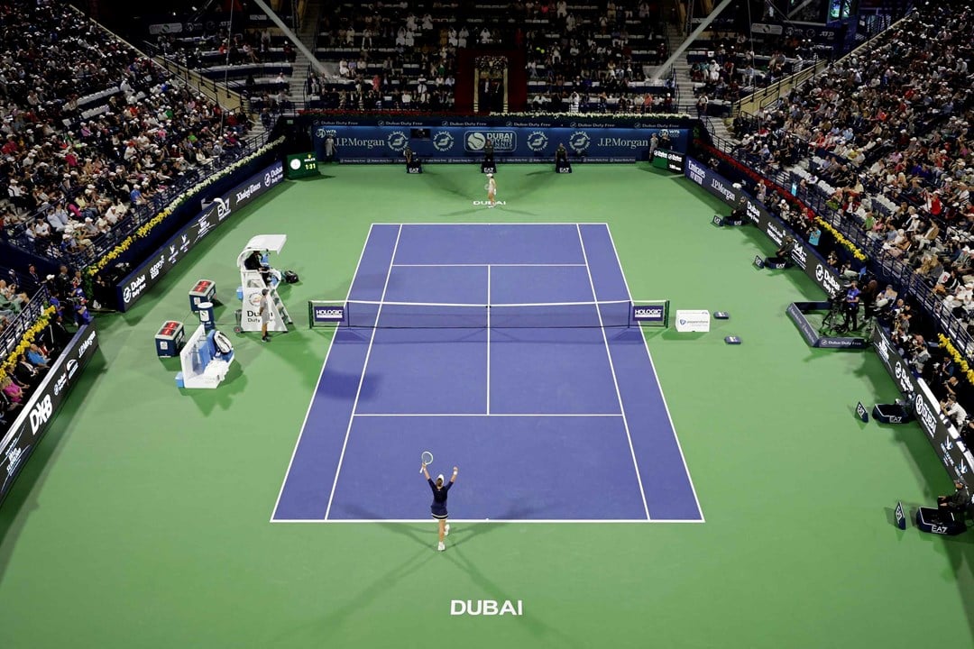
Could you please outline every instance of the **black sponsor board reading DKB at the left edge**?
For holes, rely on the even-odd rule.
[[[85,325],[79,329],[0,441],[0,501],[14,484],[27,457],[41,441],[48,423],[97,348],[98,335],[94,326]]]

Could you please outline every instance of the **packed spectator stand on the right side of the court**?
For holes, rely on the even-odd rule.
[[[739,141],[726,147],[780,186],[795,187],[856,233],[883,271],[910,284],[914,308],[894,302],[888,324],[942,399],[944,373],[961,368],[937,349],[935,333],[950,332],[961,353],[974,355],[969,18],[966,3],[921,8],[777,104],[738,118]],[[922,311],[932,315],[925,327]],[[971,403],[966,381],[956,391]]]

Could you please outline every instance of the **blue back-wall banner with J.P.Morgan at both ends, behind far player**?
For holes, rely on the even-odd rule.
[[[499,162],[553,160],[559,144],[570,158],[587,162],[647,160],[650,137],[665,131],[669,148],[687,150],[686,128],[523,127],[523,126],[316,126],[315,152],[324,158],[329,135],[341,162],[401,162],[406,147],[425,162],[475,162],[484,156],[487,141]]]

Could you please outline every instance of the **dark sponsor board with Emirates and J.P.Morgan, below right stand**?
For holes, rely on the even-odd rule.
[[[828,295],[836,295],[842,291],[839,274],[825,263],[818,251],[802,241],[798,234],[792,232],[781,219],[768,212],[760,202],[734,187],[724,176],[690,156],[687,157],[684,166],[684,175],[731,206],[743,204],[744,223],[754,225],[767,234],[775,245],[781,245],[785,236],[791,234],[797,242],[792,250],[792,261],[795,262],[795,266],[805,270],[805,274]]]

